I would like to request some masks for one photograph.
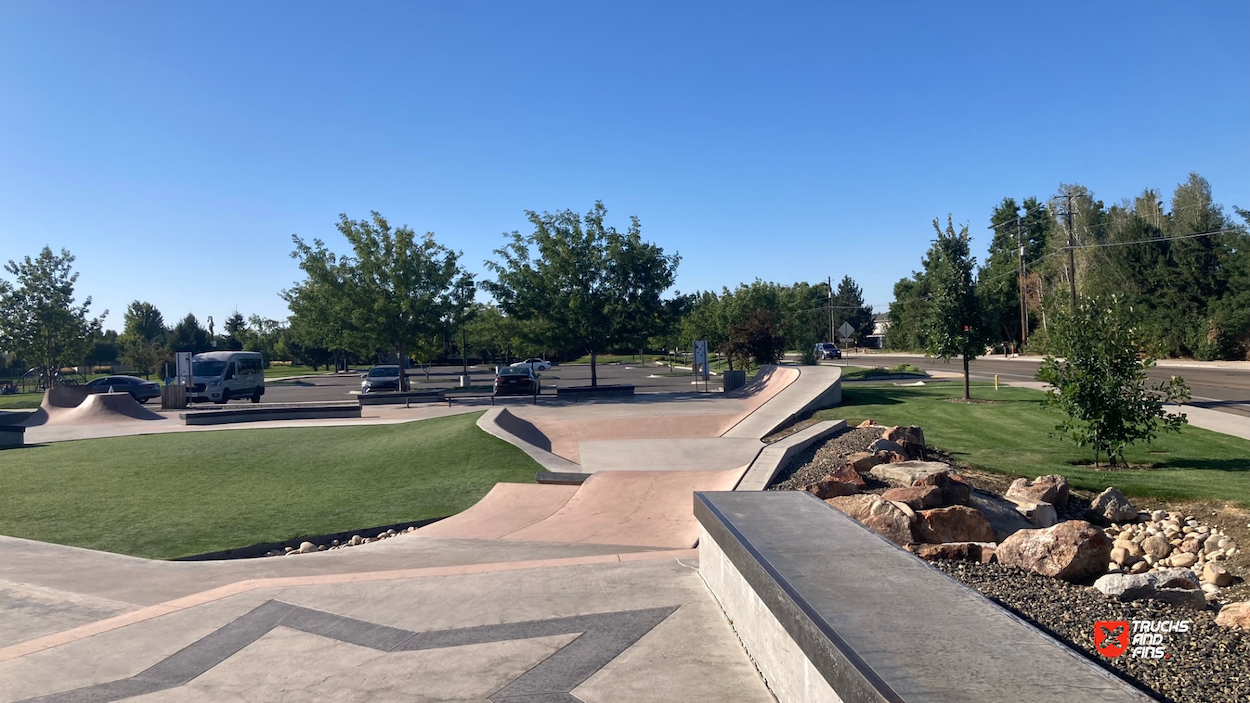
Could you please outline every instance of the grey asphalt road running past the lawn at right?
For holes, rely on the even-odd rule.
[[[959,360],[952,359],[948,363],[911,355],[860,354],[840,363],[852,367],[894,367],[906,363],[926,372],[964,373],[962,363]],[[969,375],[978,380],[994,380],[995,374],[1004,382],[1036,380],[1039,365],[1038,359],[982,357],[969,365]],[[1148,375],[1158,380],[1178,375],[1189,385],[1192,395],[1190,405],[1250,418],[1250,370],[1155,367]]]

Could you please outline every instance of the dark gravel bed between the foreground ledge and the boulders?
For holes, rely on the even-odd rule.
[[[1090,587],[999,564],[932,565],[1160,700],[1250,700],[1250,632],[1216,625],[1214,609],[1195,612],[1154,600],[1120,603]],[[1165,659],[1132,658],[1130,652],[1108,659],[1094,648],[1095,620],[1190,620],[1190,625],[1186,633],[1164,635]]]

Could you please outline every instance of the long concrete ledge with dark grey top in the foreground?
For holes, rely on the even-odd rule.
[[[782,703],[1149,700],[810,494],[694,500],[699,572]]]

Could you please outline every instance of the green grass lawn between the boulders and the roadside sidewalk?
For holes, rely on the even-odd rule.
[[[1250,442],[1185,427],[1161,435],[1150,447],[1126,454],[1130,464],[1150,469],[1094,470],[1094,452],[1051,437],[1056,410],[1042,408],[1041,392],[976,384],[972,398],[985,404],[952,403],[960,384],[922,388],[855,387],[842,389],[842,404],[820,410],[818,419],[842,419],[854,427],[871,418],[879,424],[920,425],[925,440],[978,469],[1009,475],[1062,474],[1076,488],[1115,485],[1131,495],[1181,500],[1232,500],[1250,505]]]

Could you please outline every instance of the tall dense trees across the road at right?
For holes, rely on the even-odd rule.
[[[1108,206],[1079,184],[1060,185],[1048,200],[1005,198],[990,213],[985,263],[971,260],[976,295],[966,321],[978,331],[980,353],[985,346],[1054,353],[1060,313],[1076,298],[1114,295],[1152,357],[1250,358],[1250,213],[1234,211],[1236,219],[1214,203],[1198,174],[1166,204],[1146,189]],[[930,324],[944,300],[939,284],[950,259],[941,234],[920,270],[894,285],[890,348],[931,350],[944,343]],[[966,236],[966,228],[950,236],[960,234]]]

